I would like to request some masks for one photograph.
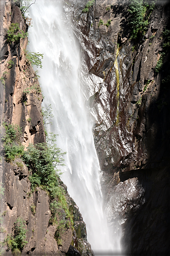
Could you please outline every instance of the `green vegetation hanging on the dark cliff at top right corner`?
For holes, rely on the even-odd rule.
[[[128,24],[131,29],[131,38],[135,39],[138,37],[139,33],[144,34],[145,30],[149,24],[148,18],[154,9],[155,2],[145,1],[143,4],[143,0],[131,0],[129,5],[129,17],[127,19]],[[150,10],[149,14],[146,16],[146,11]]]

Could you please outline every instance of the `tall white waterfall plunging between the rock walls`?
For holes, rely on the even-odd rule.
[[[67,152],[62,180],[79,206],[93,250],[120,251],[109,235],[102,210],[102,194],[92,134],[79,82],[79,46],[74,39],[69,15],[59,0],[37,0],[30,7],[33,27],[29,29],[29,50],[44,54],[39,70],[47,107],[54,119],[49,128],[59,134],[58,147]]]

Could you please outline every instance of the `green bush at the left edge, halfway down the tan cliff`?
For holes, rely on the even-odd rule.
[[[3,136],[3,148],[5,151],[6,162],[11,162],[15,157],[22,155],[24,146],[21,146],[21,128],[18,125],[4,124],[6,134]],[[18,145],[19,144],[19,145]]]

